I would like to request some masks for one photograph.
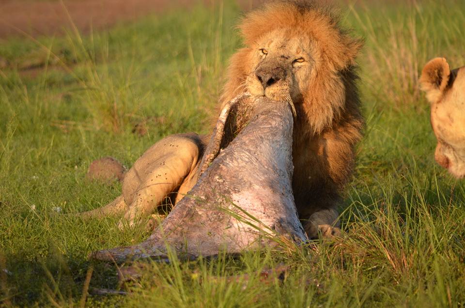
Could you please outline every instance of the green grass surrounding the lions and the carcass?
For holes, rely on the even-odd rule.
[[[342,12],[366,40],[359,63],[367,130],[341,205],[345,237],[294,252],[149,264],[129,295],[92,295],[87,306],[464,305],[465,182],[434,163],[429,106],[417,80],[435,56],[465,64],[465,3]],[[1,42],[0,57],[10,63],[0,69],[3,305],[79,306],[91,266],[91,287],[119,287],[114,267],[92,264],[88,253],[147,234],[54,209],[87,210],[119,194],[120,185],[85,180],[93,159],[111,155],[130,166],[164,136],[208,131],[227,59],[241,44],[238,17],[227,2],[93,35]],[[26,69],[33,66],[41,69]],[[159,121],[144,137],[132,134],[147,117]],[[283,282],[254,275],[281,263],[290,268]],[[233,275],[242,278],[231,282]]]

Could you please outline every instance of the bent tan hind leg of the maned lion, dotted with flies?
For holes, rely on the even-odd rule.
[[[202,152],[197,134],[169,136],[148,149],[124,178],[123,196],[129,206],[120,228],[144,222],[186,178],[191,181]]]

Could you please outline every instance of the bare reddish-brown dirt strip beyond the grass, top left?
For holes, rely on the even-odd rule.
[[[212,0],[204,0],[206,4]],[[239,0],[244,9],[261,0]],[[102,29],[121,21],[163,12],[174,7],[188,7],[192,0],[0,0],[0,38],[24,34],[60,34],[72,26],[82,32]]]

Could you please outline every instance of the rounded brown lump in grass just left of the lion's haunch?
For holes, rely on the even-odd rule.
[[[104,157],[94,160],[89,166],[86,177],[105,183],[123,181],[126,168],[113,157]]]

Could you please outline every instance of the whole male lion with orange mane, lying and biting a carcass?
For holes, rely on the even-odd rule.
[[[338,191],[351,175],[364,126],[355,62],[362,42],[313,1],[273,1],[246,15],[239,28],[245,47],[231,59],[222,105],[245,92],[292,101],[293,191],[299,218],[310,238],[319,231],[339,232]],[[230,122],[230,138],[222,147],[241,128]],[[158,141],[128,171],[123,195],[89,215],[120,209],[133,223],[171,192],[177,192],[174,202],[179,201],[196,183],[206,140],[187,134]]]

